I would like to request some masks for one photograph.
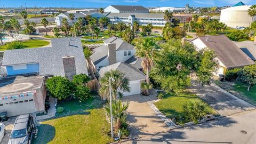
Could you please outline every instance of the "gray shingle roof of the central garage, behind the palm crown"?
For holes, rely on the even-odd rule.
[[[99,71],[100,77],[102,77],[109,70],[119,70],[123,72],[129,81],[146,79],[145,74],[143,74],[140,70],[124,62],[117,62],[113,65],[101,68]]]

